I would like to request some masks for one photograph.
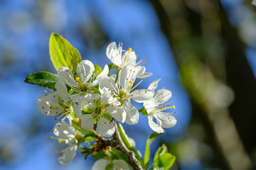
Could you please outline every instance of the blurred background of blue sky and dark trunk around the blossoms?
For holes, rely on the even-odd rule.
[[[44,95],[28,74],[56,73],[50,33],[63,35],[94,64],[110,64],[107,45],[132,47],[159,89],[174,91],[178,123],[151,145],[166,143],[172,169],[256,169],[256,7],[242,0],[1,0],[0,169],[91,169],[79,151],[58,163],[65,145],[50,139],[54,118],[36,109]],[[138,105],[138,108],[141,107]],[[125,125],[144,154],[147,118]],[[153,156],[153,155],[152,155]]]

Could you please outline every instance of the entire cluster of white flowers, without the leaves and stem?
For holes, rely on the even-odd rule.
[[[97,134],[111,137],[114,132],[114,121],[135,125],[139,121],[139,111],[132,106],[131,99],[143,103],[144,114],[148,117],[149,126],[155,132],[164,132],[163,128],[176,125],[174,113],[164,113],[168,108],[166,103],[172,92],[163,88],[155,91],[160,79],[153,81],[148,89],[137,89],[137,86],[151,73],[146,73],[142,66],[145,59],[137,62],[137,55],[129,48],[122,49],[122,43],[117,47],[115,42],[107,47],[107,57],[117,67],[117,74],[110,75],[106,64],[104,69],[95,69],[89,60],[78,63],[76,74],[68,67],[58,70],[59,81],[55,84],[56,91],[38,98],[38,110],[45,115],[55,116],[60,123],[55,125],[54,134],[68,147],[62,151],[60,163],[68,163],[75,157],[78,148],[77,135],[79,131],[71,125],[72,120],[78,120],[81,128],[96,130]],[[97,68],[97,67],[96,67]],[[141,79],[134,84],[136,79]],[[69,123],[64,120],[68,118]],[[156,118],[156,123],[153,121]],[[107,164],[106,159],[97,162],[94,167]],[[115,166],[124,164],[115,161]],[[95,168],[97,169],[97,168]],[[125,168],[128,169],[128,168]]]

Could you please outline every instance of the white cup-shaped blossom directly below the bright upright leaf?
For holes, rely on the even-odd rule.
[[[76,93],[86,94],[87,92],[94,92],[92,87],[97,86],[100,80],[107,77],[109,68],[106,64],[102,72],[95,77],[98,70],[95,70],[92,62],[89,60],[83,60],[78,64],[76,72],[78,77],[74,78],[73,73],[68,67],[60,67],[58,70],[58,79],[64,84],[70,86]]]

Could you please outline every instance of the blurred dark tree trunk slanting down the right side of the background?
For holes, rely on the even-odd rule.
[[[220,169],[252,169],[247,152],[256,143],[251,137],[256,81],[237,28],[230,25],[218,0],[150,2],[191,96],[191,121],[203,120],[205,142],[214,149],[211,164]]]

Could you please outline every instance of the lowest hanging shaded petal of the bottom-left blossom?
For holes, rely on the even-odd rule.
[[[78,149],[77,145],[69,145],[68,147],[66,147],[62,151],[63,155],[58,158],[58,161],[60,162],[60,164],[68,164],[69,162],[71,162],[75,157],[77,149]]]

